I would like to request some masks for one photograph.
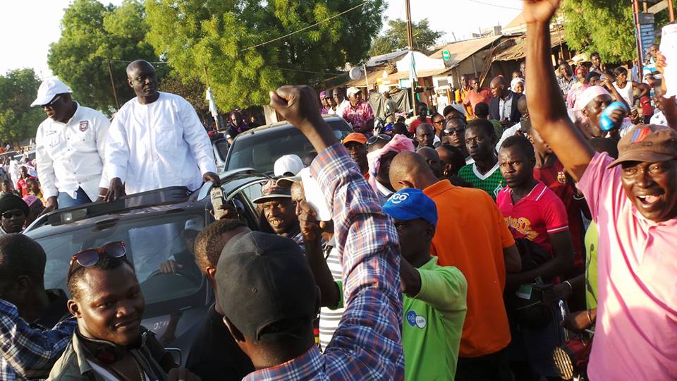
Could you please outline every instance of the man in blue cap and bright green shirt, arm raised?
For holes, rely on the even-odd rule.
[[[312,234],[318,229],[315,213],[303,201],[296,211],[303,234],[317,240]],[[453,380],[468,284],[461,270],[439,266],[437,257],[430,255],[437,207],[422,191],[404,188],[391,196],[383,211],[394,219],[400,238],[405,380]],[[334,286],[326,262],[318,260],[319,243],[310,241],[305,243],[306,256],[321,291],[322,306],[340,308],[341,282]]]

